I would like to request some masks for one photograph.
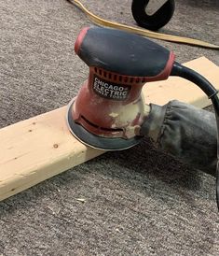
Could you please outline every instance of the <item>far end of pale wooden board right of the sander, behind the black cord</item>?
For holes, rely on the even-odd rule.
[[[188,62],[185,66],[196,70],[219,90],[219,66],[213,64],[205,57]],[[150,82],[144,86],[143,92],[146,103],[152,102],[157,103],[157,105],[164,105],[171,99],[190,103],[200,108],[212,104],[211,100],[208,99],[197,85],[184,78],[170,77],[165,81]]]

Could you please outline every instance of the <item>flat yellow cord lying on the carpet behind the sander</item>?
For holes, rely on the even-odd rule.
[[[106,21],[106,20],[96,16],[95,14],[91,13],[86,7],[84,7],[82,5],[82,3],[79,0],[72,0],[72,1],[66,0],[66,1],[75,5],[79,9],[81,9],[89,17],[90,21],[93,21],[95,24],[100,25],[100,26],[125,30],[128,32],[134,33],[134,34],[138,34],[141,36],[147,36],[147,37],[151,37],[151,38],[156,38],[159,40],[165,40],[165,41],[171,41],[171,42],[177,42],[177,43],[183,43],[183,44],[188,44],[188,45],[194,45],[194,46],[219,50],[218,45],[213,45],[211,43],[204,42],[204,41],[201,41],[198,39],[184,37],[184,36],[171,36],[168,34],[161,34],[161,33],[153,32],[153,31],[150,31],[147,29],[131,27],[128,25],[117,23],[115,21]]]

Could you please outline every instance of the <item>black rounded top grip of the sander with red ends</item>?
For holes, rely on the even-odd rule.
[[[101,27],[84,34],[75,51],[89,66],[132,77],[157,77],[165,70],[170,75],[173,53],[144,36]]]

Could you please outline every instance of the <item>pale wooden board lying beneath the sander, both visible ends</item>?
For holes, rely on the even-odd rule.
[[[206,58],[186,64],[219,89],[219,67]],[[144,86],[147,103],[163,105],[171,99],[206,107],[210,104],[198,87],[183,78],[169,78]],[[94,158],[104,151],[84,146],[70,134],[66,107],[50,111],[0,130],[0,200]]]

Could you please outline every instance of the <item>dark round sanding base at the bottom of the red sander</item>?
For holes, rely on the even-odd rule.
[[[134,136],[129,139],[117,137],[103,137],[89,133],[82,125],[73,120],[72,112],[75,98],[70,102],[67,109],[67,124],[70,132],[83,144],[93,148],[102,150],[122,150],[130,149],[131,147],[139,144],[143,136]]]

